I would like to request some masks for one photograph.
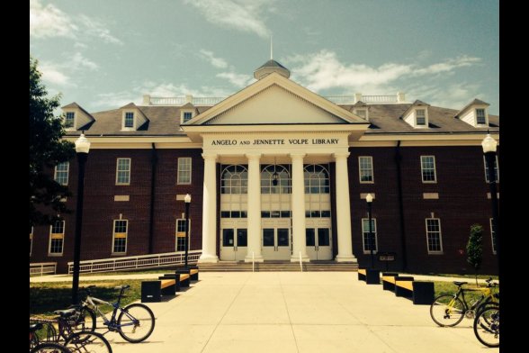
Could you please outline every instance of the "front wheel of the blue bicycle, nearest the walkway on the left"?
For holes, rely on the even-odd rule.
[[[118,317],[118,327],[123,339],[130,343],[138,343],[154,330],[154,313],[147,305],[134,303],[125,306]]]

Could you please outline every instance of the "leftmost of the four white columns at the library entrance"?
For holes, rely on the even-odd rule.
[[[202,255],[198,262],[218,262],[217,256],[217,155],[202,154],[204,187],[202,202]]]

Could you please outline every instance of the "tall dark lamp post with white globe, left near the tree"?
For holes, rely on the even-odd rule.
[[[85,193],[85,164],[90,150],[90,141],[85,138],[85,131],[76,140],[77,162],[77,206],[76,206],[76,237],[74,239],[74,276],[72,279],[72,303],[78,303],[79,261],[81,258],[81,230],[83,227],[83,194]]]

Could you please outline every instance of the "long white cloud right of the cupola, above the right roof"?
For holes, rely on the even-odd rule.
[[[321,50],[309,55],[287,58],[293,64],[292,79],[313,91],[342,88],[363,94],[388,94],[408,86],[410,77],[434,77],[441,73],[453,73],[457,68],[476,65],[480,58],[462,56],[421,67],[417,63],[385,63],[379,67],[363,64],[345,64],[337,59],[336,53]],[[399,87],[395,87],[395,85]]]

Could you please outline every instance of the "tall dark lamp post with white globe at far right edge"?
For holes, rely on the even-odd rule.
[[[498,278],[499,278],[499,213],[498,213],[498,191],[496,186],[496,173],[494,173],[494,164],[496,162],[496,150],[498,148],[498,142],[487,133],[485,139],[481,141],[481,147],[483,147],[483,154],[485,155],[485,161],[487,167],[489,167],[489,187],[490,187],[490,201],[492,204],[492,230],[496,236],[496,256],[498,257]]]

